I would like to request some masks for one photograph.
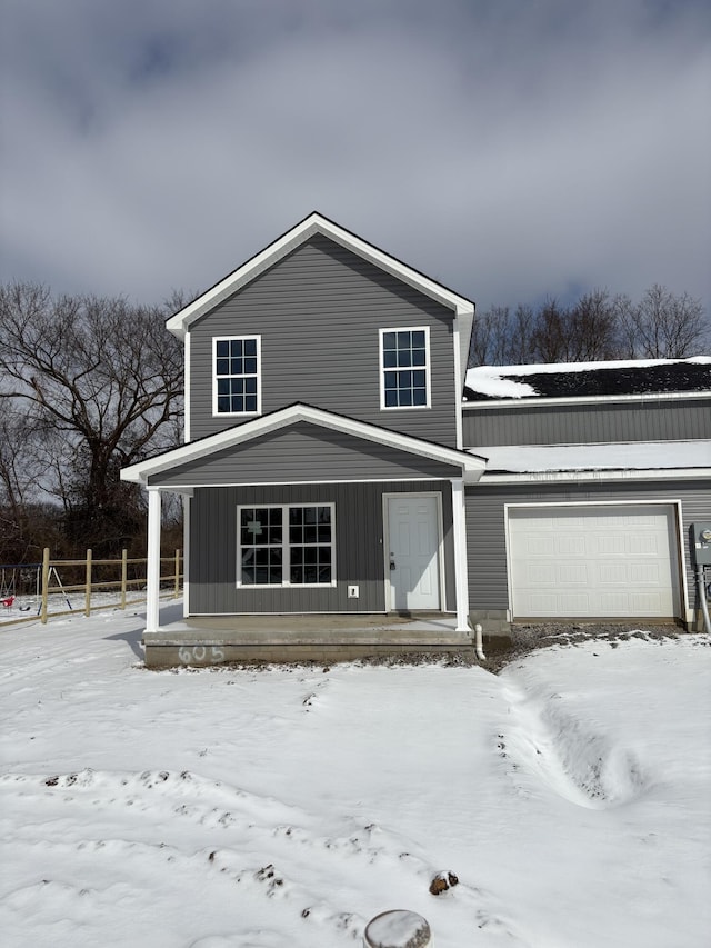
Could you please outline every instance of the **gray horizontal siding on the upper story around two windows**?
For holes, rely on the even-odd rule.
[[[427,326],[431,408],[380,409],[379,329]],[[261,336],[262,413],[300,401],[455,446],[453,313],[317,236],[198,320],[190,333],[190,438],[212,416],[212,339]]]

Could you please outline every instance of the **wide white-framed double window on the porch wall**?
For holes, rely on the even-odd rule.
[[[238,586],[333,586],[334,505],[238,507]]]

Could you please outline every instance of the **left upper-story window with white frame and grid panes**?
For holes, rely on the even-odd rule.
[[[213,339],[213,415],[261,411],[260,337]]]

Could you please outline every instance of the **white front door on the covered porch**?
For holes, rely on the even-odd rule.
[[[440,608],[437,497],[403,493],[388,498],[390,608]]]

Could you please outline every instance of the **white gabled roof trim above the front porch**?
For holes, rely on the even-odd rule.
[[[217,451],[249,442],[260,435],[277,431],[280,428],[286,428],[299,421],[309,421],[312,425],[352,435],[356,438],[364,438],[368,441],[387,445],[407,453],[455,466],[461,469],[462,476],[470,482],[479,480],[487,466],[483,458],[468,451],[448,448],[443,445],[437,445],[434,441],[413,438],[410,435],[402,435],[389,428],[380,428],[377,425],[358,421],[344,415],[337,415],[332,411],[326,411],[322,408],[313,408],[310,405],[296,402],[287,408],[280,408],[269,415],[262,415],[259,418],[236,425],[216,435],[208,435],[206,438],[200,438],[197,441],[189,441],[179,448],[163,451],[154,458],[149,458],[146,461],[139,461],[136,465],[123,468],[121,480],[147,485],[149,478],[166,473],[180,465],[207,458]]]

